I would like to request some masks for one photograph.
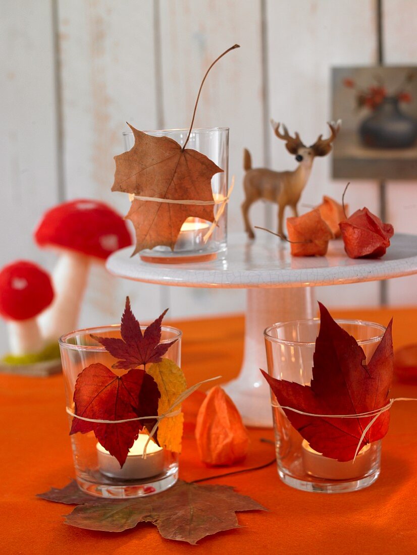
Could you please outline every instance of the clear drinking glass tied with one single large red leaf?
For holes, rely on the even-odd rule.
[[[368,362],[384,335],[384,326],[361,320],[336,322],[356,339]],[[264,331],[268,374],[278,380],[310,385],[319,328],[319,319],[294,320],[268,327]],[[272,392],[271,398],[276,404]],[[338,493],[361,490],[378,478],[380,441],[363,447],[355,463],[339,462],[313,451],[280,407],[273,406],[273,416],[278,474],[289,486],[298,490]]]

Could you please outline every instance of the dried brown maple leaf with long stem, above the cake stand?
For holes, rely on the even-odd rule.
[[[126,216],[132,221],[136,232],[133,255],[157,245],[169,246],[173,250],[181,226],[189,217],[214,221],[213,204],[158,202],[147,200],[146,197],[213,202],[211,180],[213,175],[223,169],[204,154],[185,149],[185,146],[193,128],[204,80],[213,65],[234,48],[238,48],[238,45],[223,52],[205,73],[183,147],[169,137],[153,137],[128,124],[135,142],[128,152],[114,157],[116,169],[112,191],[145,197],[135,198]]]

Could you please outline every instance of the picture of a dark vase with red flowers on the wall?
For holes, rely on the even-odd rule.
[[[336,179],[417,178],[417,67],[335,67]]]

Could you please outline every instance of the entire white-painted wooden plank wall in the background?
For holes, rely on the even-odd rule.
[[[417,2],[384,0],[383,15],[386,63],[415,64]],[[187,127],[205,69],[232,44],[242,48],[210,74],[196,120],[230,127],[231,231],[242,229],[243,147],[256,165],[293,168],[269,118],[313,142],[330,117],[331,66],[377,61],[376,0],[2,0],[0,16],[1,265],[27,258],[52,269],[54,255],[35,248],[31,233],[59,201],[97,198],[125,213],[125,196],[110,193],[125,122]],[[318,159],[303,203],[339,198],[343,186],[330,179],[330,159]],[[375,182],[356,181],[349,195],[352,206],[379,212]],[[388,184],[396,231],[416,232],[416,208],[415,183]],[[275,208],[258,204],[252,218],[275,225]],[[389,303],[415,304],[416,285],[390,282]],[[117,321],[126,294],[143,319],[167,306],[175,318],[242,312],[245,302],[243,291],[134,284],[96,266],[80,325]],[[376,306],[379,286],[317,295],[331,306]]]

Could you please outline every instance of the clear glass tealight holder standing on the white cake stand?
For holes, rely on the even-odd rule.
[[[188,129],[145,131],[145,133],[154,137],[169,137],[182,146],[187,139]],[[130,150],[134,145],[132,131],[124,132],[123,138],[124,148]],[[228,194],[229,128],[193,129],[187,143],[186,149],[188,148],[205,154],[223,170],[213,175],[211,182],[215,202],[213,211],[217,225],[205,240],[212,222],[195,217],[187,218],[182,225],[174,250],[167,246],[142,250],[140,258],[146,262],[163,264],[204,262],[214,260],[227,248],[227,205],[222,207]]]

